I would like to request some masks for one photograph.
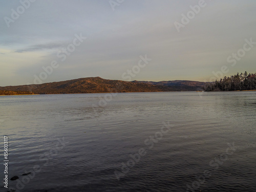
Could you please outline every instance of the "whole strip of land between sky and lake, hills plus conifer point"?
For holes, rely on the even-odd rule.
[[[0,87],[0,95],[201,91],[203,89],[205,91],[256,90],[256,73],[238,73],[209,83],[187,80],[121,81],[88,77],[43,84]]]

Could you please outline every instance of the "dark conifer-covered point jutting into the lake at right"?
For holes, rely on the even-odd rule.
[[[207,83],[205,91],[249,91],[256,90],[256,73],[241,73]]]

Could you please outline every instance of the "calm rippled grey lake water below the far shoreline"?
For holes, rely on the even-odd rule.
[[[256,92],[105,95],[1,96],[9,190],[256,191]]]

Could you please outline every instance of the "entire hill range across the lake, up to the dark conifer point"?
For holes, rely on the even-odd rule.
[[[72,94],[110,92],[166,92],[203,90],[199,81],[121,81],[101,77],[87,77],[67,81],[0,87],[0,91],[30,92],[33,94]]]

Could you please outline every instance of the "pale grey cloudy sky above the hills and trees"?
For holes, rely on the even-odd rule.
[[[132,80],[209,81],[221,69],[223,76],[256,72],[256,44],[248,44],[256,42],[255,0],[205,0],[200,10],[194,0],[28,2],[0,2],[0,86],[127,80],[123,74],[138,70],[145,55],[152,60]]]

